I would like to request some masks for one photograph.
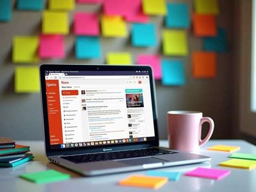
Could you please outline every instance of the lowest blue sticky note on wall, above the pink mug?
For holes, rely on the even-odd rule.
[[[169,86],[185,84],[184,66],[181,60],[162,60],[162,84]]]

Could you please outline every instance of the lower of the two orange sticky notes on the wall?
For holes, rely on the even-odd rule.
[[[192,65],[195,78],[214,78],[216,76],[216,53],[194,52]]]

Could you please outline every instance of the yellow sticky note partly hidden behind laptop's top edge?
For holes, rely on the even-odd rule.
[[[132,58],[128,52],[108,52],[107,64],[109,65],[130,65]]]

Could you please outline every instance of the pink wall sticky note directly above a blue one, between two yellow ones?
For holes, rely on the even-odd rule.
[[[100,34],[98,14],[76,12],[74,15],[74,34],[98,36]]]

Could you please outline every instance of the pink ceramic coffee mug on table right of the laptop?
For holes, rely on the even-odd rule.
[[[187,152],[198,151],[212,136],[214,122],[197,111],[168,111],[169,148]],[[202,124],[208,122],[210,129],[202,140]]]

